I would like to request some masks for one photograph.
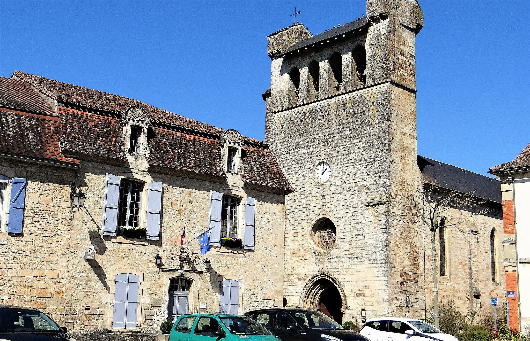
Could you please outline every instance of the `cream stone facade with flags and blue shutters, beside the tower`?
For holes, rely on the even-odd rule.
[[[83,191],[87,199],[84,210],[74,212],[71,232],[71,254],[68,261],[70,277],[67,288],[65,321],[75,329],[112,329],[114,277],[118,273],[135,273],[141,278],[138,325],[142,330],[157,330],[167,318],[169,280],[185,277],[192,280],[189,312],[218,312],[219,284],[223,279],[240,282],[240,310],[280,306],[283,297],[284,197],[257,191],[244,191],[234,186],[235,180],[219,184],[200,180],[153,174],[130,168],[83,162]],[[162,229],[160,241],[102,237],[102,205],[105,173],[143,182],[163,183]],[[231,184],[232,183],[232,184]],[[180,236],[185,225],[186,239],[205,232],[209,224],[209,191],[232,193],[242,199],[256,199],[255,250],[243,251],[212,247],[200,255],[197,241],[187,244],[192,269],[198,272],[165,271],[156,268],[155,254],[162,257],[162,268],[179,268]],[[143,207],[143,206],[142,206]],[[241,234],[243,207],[240,205]],[[145,215],[143,215],[145,216]],[[93,220],[92,220],[93,219]],[[145,222],[145,218],[141,218]],[[145,226],[140,223],[141,226]],[[82,252],[90,245],[96,247],[95,260],[84,262]],[[208,258],[211,268],[206,271],[203,261]],[[201,273],[199,273],[201,272]]]

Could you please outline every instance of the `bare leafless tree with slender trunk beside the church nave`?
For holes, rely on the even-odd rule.
[[[466,234],[478,234],[470,231],[467,223],[474,216],[487,214],[492,208],[489,200],[475,195],[475,192],[462,193],[448,190],[428,183],[417,188],[416,191],[405,192],[405,202],[410,205],[404,211],[398,212],[398,220],[403,223],[423,223],[429,228],[431,242],[431,271],[434,291],[434,324],[440,327],[440,308],[438,303],[438,277],[436,272],[436,231],[440,227],[440,220],[444,218],[444,227],[454,226],[458,231]],[[449,214],[448,210],[454,210]],[[411,217],[406,218],[405,217]],[[401,220],[403,219],[403,220]]]

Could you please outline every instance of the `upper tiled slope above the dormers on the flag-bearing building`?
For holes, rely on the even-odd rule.
[[[58,102],[94,108],[117,114],[122,114],[131,105],[138,105],[147,112],[153,122],[165,123],[175,127],[185,128],[193,132],[205,133],[214,136],[220,136],[220,134],[222,134],[224,131],[223,129],[213,125],[168,112],[166,110],[140,102],[136,99],[84,88],[41,76],[31,75],[30,73],[21,71],[15,71],[13,76],[28,82],[33,87],[39,89],[39,91],[41,91],[43,94],[57,100]],[[248,143],[267,146],[266,143],[251,139],[250,137],[244,137],[244,140]]]

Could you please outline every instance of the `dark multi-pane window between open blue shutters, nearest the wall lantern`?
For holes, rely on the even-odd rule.
[[[118,226],[138,227],[143,187],[142,183],[136,181],[121,181]]]

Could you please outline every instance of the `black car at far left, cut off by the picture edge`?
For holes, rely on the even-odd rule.
[[[0,306],[0,339],[11,341],[75,341],[43,312],[25,307]]]

